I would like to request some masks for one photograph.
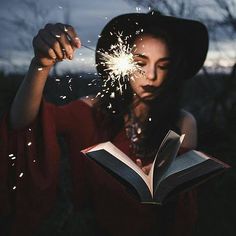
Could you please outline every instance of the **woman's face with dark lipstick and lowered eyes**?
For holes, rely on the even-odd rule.
[[[143,100],[152,100],[167,79],[170,53],[165,41],[151,35],[139,36],[134,42],[134,61],[143,73],[136,72],[130,80],[133,92]]]

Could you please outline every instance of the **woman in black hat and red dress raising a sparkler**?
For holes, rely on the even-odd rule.
[[[126,87],[122,92],[117,89],[119,81],[111,82],[101,53],[112,52],[118,32],[122,42],[133,46],[134,64],[141,70],[122,79]],[[14,215],[12,234],[34,232],[53,206],[58,182],[56,133],[62,133],[69,147],[75,205],[92,208],[97,235],[190,235],[192,193],[183,195],[178,204],[142,205],[106,171],[83,158],[80,150],[110,140],[148,173],[169,129],[186,134],[183,149],[195,148],[195,119],[180,110],[178,101],[182,81],[195,75],[205,60],[205,27],[156,12],[114,18],[97,44],[100,97],[61,107],[42,101],[43,88],[55,62],[72,60],[80,40],[71,26],[48,24],[33,46],[35,56],[6,116],[17,132],[9,133],[4,122],[1,127],[1,208],[5,215]]]

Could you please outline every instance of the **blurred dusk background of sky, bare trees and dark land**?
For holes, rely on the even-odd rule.
[[[206,63],[186,82],[182,105],[198,122],[198,149],[232,168],[198,189],[199,220],[194,235],[236,235],[236,0],[1,0],[0,116],[9,109],[33,56],[32,38],[48,22],[71,24],[82,44],[94,48],[99,33],[113,17],[159,10],[200,20],[208,27]],[[181,32],[180,32],[181,33]],[[57,64],[45,88],[47,100],[65,104],[96,93],[93,50],[82,47],[75,59]],[[90,212],[75,215],[70,201],[69,165],[62,146],[58,201],[37,235],[95,235]]]

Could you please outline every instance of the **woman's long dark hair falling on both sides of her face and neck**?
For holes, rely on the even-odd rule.
[[[160,94],[152,101],[149,101],[150,113],[149,117],[152,122],[146,122],[144,135],[145,139],[142,145],[147,150],[158,147],[161,140],[169,129],[179,132],[177,122],[180,115],[180,97],[183,80],[181,79],[181,71],[184,67],[184,58],[181,54],[181,48],[175,44],[170,34],[163,29],[146,28],[143,34],[151,35],[152,37],[164,40],[167,43],[171,53],[171,65],[168,69],[167,79],[161,85]],[[140,37],[140,35],[139,35]],[[131,45],[133,41],[129,42]],[[101,78],[102,88],[103,82],[106,80],[106,75]],[[107,135],[112,140],[117,133],[124,127],[124,116],[129,114],[133,99],[133,91],[127,78],[124,78],[124,84],[127,88],[120,94],[116,90],[118,86],[109,86],[109,93],[103,93],[103,96],[94,106],[94,114],[102,114],[103,122],[99,124],[99,128],[107,131]],[[106,83],[109,83],[109,81]],[[113,93],[114,96],[110,96]],[[109,107],[112,105],[112,108]],[[109,128],[108,128],[109,127]]]

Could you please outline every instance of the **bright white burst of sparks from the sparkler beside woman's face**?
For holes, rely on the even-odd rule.
[[[110,32],[111,35],[114,35]],[[110,46],[109,52],[98,51],[102,56],[101,65],[105,66],[105,71],[108,72],[108,81],[111,81],[111,86],[114,86],[115,82],[118,82],[117,90],[120,94],[123,93],[123,85],[125,80],[129,80],[135,72],[142,73],[141,67],[134,61],[132,54],[133,47],[131,47],[127,39],[122,39],[122,33],[116,34],[117,43]]]

